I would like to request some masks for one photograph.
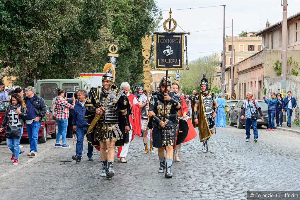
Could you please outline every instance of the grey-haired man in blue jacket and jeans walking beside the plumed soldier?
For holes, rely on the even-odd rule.
[[[88,130],[87,120],[84,118],[85,110],[86,110],[84,104],[87,95],[88,95],[87,91],[79,90],[77,93],[78,101],[75,103],[73,109],[72,124],[73,124],[73,130],[76,131],[77,142],[76,142],[76,155],[73,155],[72,159],[78,163],[81,162],[83,138]],[[94,147],[91,146],[91,143],[88,142],[88,153],[86,155],[88,156],[88,160],[90,161],[93,160],[93,150]]]

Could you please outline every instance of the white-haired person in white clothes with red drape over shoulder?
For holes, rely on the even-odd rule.
[[[130,94],[130,85],[128,82],[122,82],[120,88],[122,88],[129,100],[130,107],[132,109],[133,115],[129,116],[129,123],[131,130],[129,131],[129,142],[124,144],[123,147],[118,147],[118,158],[120,157],[121,163],[127,163],[126,157],[128,154],[128,149],[130,142],[134,139],[134,135],[140,136],[141,134],[141,110],[140,104],[137,101],[137,96]]]

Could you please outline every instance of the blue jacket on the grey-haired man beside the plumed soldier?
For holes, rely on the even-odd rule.
[[[86,100],[85,100],[86,101]],[[84,118],[85,110],[84,103],[82,104],[80,101],[77,101],[75,103],[74,109],[73,109],[73,126],[78,127],[86,127],[88,126],[88,121]]]

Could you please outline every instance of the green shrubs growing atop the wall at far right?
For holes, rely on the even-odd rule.
[[[293,56],[289,57],[286,60],[286,74],[289,75],[294,75],[294,76],[298,76],[300,67],[298,67],[299,62],[296,61],[292,61]],[[281,76],[281,62],[279,60],[277,60],[274,63],[274,66],[272,66],[272,69],[274,69],[276,71],[276,75],[277,76]]]

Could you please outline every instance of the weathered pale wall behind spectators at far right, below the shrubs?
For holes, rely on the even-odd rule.
[[[300,85],[300,77],[298,76],[287,76],[286,78],[286,92],[291,91],[292,96],[295,97],[297,106],[294,109],[294,112],[292,114],[292,121],[296,122],[299,121],[299,107],[298,107],[298,99],[300,99],[300,90],[299,88]],[[264,88],[266,88],[266,95],[267,97],[271,97],[271,93],[280,93],[281,91],[281,77],[274,77],[274,78],[265,78],[264,81]],[[286,97],[286,95],[284,95]],[[287,117],[286,117],[287,119]]]

